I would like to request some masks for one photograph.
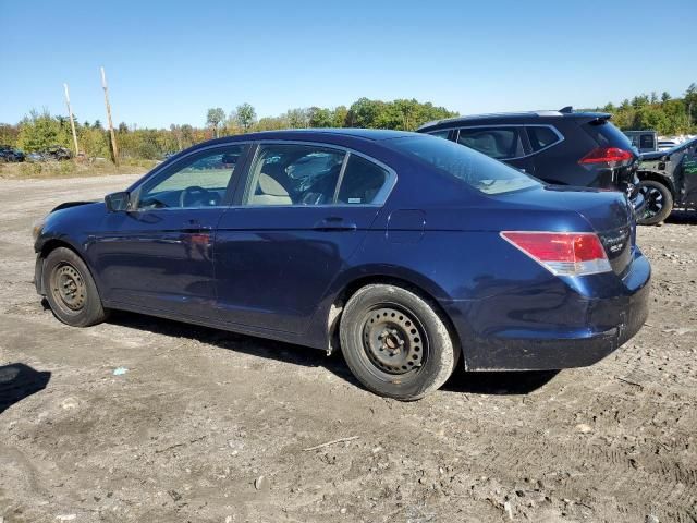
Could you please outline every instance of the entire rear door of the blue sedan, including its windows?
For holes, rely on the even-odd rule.
[[[387,166],[343,148],[260,143],[239,205],[218,226],[220,317],[304,332],[395,179]]]

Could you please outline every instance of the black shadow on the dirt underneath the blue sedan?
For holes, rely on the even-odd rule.
[[[114,311],[109,323],[158,335],[187,338],[200,343],[304,367],[325,367],[335,376],[364,388],[353,376],[341,352],[328,357],[325,352],[302,345],[255,338],[224,330],[184,324],[170,319]],[[475,394],[527,394],[549,382],[554,372],[465,373],[458,368],[443,390]]]

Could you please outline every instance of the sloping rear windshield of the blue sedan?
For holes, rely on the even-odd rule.
[[[503,194],[540,186],[540,182],[463,145],[433,136],[389,141],[395,149],[420,158],[484,194]]]

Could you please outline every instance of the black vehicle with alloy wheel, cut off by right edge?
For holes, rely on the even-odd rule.
[[[646,210],[639,223],[653,226],[673,207],[697,209],[697,138],[639,158],[639,191]]]

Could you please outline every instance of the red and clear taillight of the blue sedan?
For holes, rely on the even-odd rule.
[[[558,276],[584,276],[612,270],[597,234],[592,232],[517,232],[501,236]]]

